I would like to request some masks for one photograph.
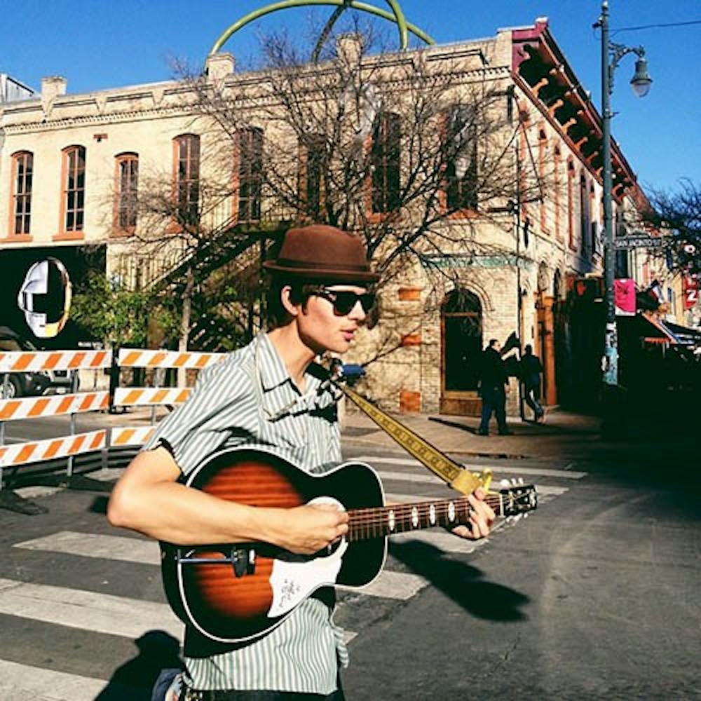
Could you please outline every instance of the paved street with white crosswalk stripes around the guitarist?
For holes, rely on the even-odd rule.
[[[520,423],[491,443],[468,420],[411,423],[497,480],[536,483],[540,504],[478,544],[438,530],[393,538],[379,579],[339,596],[349,699],[700,697],[697,480],[644,466],[632,476],[584,449],[538,455],[547,440],[536,446]],[[578,426],[580,443],[595,442]],[[447,496],[362,417],[349,419],[344,451],[374,465],[388,499]],[[182,632],[157,545],[107,524],[106,493],[23,493],[48,512],[0,511],[2,696],[148,699]]]

